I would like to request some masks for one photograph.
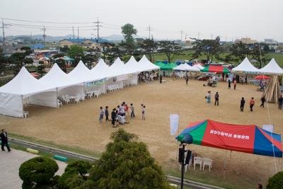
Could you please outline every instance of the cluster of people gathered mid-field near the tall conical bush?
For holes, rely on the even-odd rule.
[[[100,114],[99,114],[99,122],[103,122],[103,117],[105,115],[105,121],[109,121],[109,110],[108,106],[105,106],[105,110],[103,110],[103,107],[100,107]],[[145,111],[146,106],[144,104],[141,104],[141,119],[145,120]],[[128,124],[129,122],[126,122],[126,115],[130,115],[131,118],[136,118],[136,115],[134,114],[134,105],[131,103],[130,106],[127,105],[127,103],[123,102],[121,105],[117,105],[117,108],[113,108],[111,112],[111,123],[113,127],[117,127],[119,124]]]

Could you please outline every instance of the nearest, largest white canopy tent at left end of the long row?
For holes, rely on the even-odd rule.
[[[55,107],[52,98],[56,96],[56,88],[49,84],[41,84],[25,67],[8,84],[0,87],[0,113],[23,118],[23,99],[32,98],[31,103]],[[46,96],[45,101],[37,102],[36,96]],[[57,104],[56,104],[57,105]]]

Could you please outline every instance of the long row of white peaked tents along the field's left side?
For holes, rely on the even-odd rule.
[[[57,98],[64,94],[76,96],[93,91],[93,88],[106,93],[108,84],[120,84],[121,88],[125,82],[137,84],[140,72],[157,69],[159,67],[149,62],[146,56],[139,62],[131,57],[127,64],[117,58],[110,67],[100,59],[91,70],[80,61],[69,74],[54,64],[41,79],[35,79],[22,67],[8,84],[0,87],[0,114],[23,118],[23,102],[27,98],[31,104],[57,108]]]

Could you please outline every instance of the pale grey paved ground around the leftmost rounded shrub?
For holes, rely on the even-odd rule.
[[[0,151],[0,188],[20,189],[23,182],[18,176],[18,168],[23,162],[35,156],[35,154],[16,149],[12,149],[11,152]],[[61,176],[67,164],[61,161],[56,162],[59,166],[56,174]]]

